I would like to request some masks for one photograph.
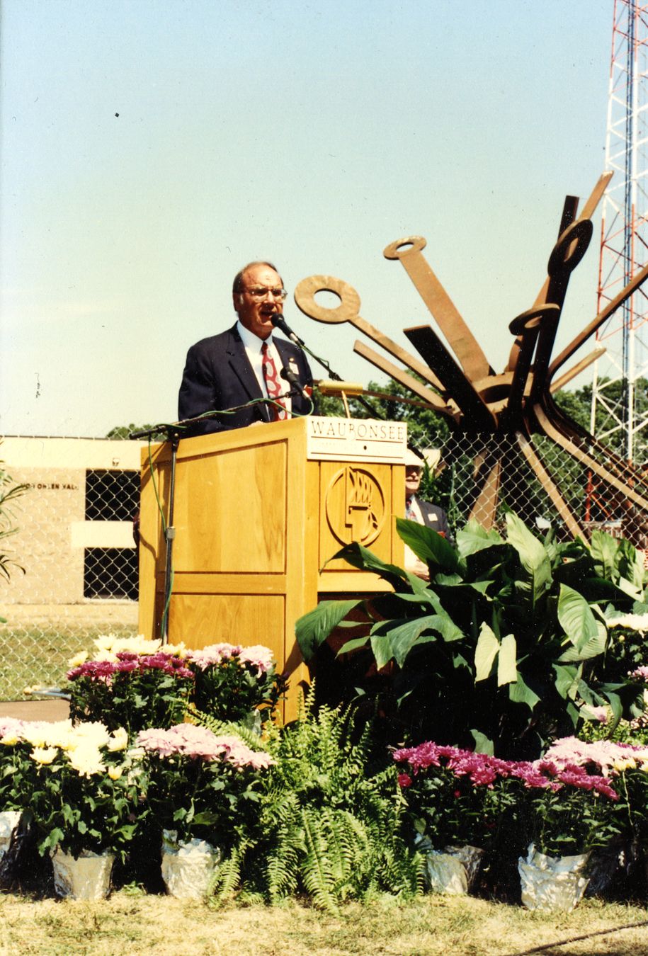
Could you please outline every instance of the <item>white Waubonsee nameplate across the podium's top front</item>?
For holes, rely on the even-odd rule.
[[[308,419],[306,457],[309,461],[376,462],[402,465],[407,450],[407,425],[375,419]]]

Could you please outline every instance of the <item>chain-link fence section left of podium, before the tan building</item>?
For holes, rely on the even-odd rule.
[[[0,583],[0,700],[9,701],[27,686],[60,685],[99,635],[137,634],[140,446],[5,437],[0,458],[24,486],[2,542],[15,562]]]

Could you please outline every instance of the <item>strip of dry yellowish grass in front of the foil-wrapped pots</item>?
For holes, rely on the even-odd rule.
[[[636,928],[619,929],[629,923]],[[646,956],[648,911],[586,901],[561,915],[474,898],[349,904],[339,917],[291,902],[230,906],[115,893],[105,902],[0,897],[0,956]],[[599,934],[607,930],[605,935]],[[578,942],[566,943],[575,937]]]

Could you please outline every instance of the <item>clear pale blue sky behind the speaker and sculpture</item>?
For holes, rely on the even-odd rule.
[[[344,279],[410,348],[431,319],[382,256],[409,234],[501,371],[565,195],[604,167],[613,7],[2,0],[2,431],[173,421],[187,348],[231,325],[257,257],[291,293]],[[597,258],[558,346],[595,314]],[[285,314],[340,375],[380,378],[351,326],[292,294]]]

